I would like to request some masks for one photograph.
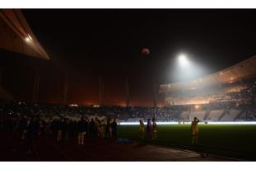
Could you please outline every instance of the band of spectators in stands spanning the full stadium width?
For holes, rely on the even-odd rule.
[[[200,108],[191,106],[139,107],[139,106],[64,106],[64,105],[35,105],[25,102],[0,102],[1,121],[18,119],[23,116],[38,117],[41,120],[55,122],[68,120],[77,122],[82,117],[87,120],[118,120],[118,122],[138,122],[156,118],[157,121],[181,121],[183,111],[213,111],[239,110],[237,120],[256,120],[256,106],[254,103],[243,104],[238,102],[211,102],[200,105]]]

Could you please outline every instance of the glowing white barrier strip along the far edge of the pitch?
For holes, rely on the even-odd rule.
[[[144,122],[147,125],[147,122]],[[184,125],[191,124],[191,121],[170,121],[157,122],[157,125]],[[256,125],[256,121],[201,121],[199,124],[209,125]],[[120,122],[120,125],[139,125],[139,122]]]

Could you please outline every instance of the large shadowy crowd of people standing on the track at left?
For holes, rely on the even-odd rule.
[[[6,124],[7,125],[7,124]],[[1,130],[11,131],[17,137],[17,148],[22,144],[27,144],[27,153],[31,153],[36,143],[36,139],[54,139],[57,143],[65,144],[67,140],[75,143],[85,144],[88,139],[117,139],[118,122],[115,119],[99,120],[81,117],[79,121],[60,119],[46,121],[39,117],[27,117],[12,120],[12,124],[1,125]]]

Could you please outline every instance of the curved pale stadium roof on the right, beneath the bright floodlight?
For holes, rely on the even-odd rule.
[[[256,55],[245,59],[239,64],[225,68],[217,73],[206,75],[202,78],[179,83],[168,83],[160,86],[160,92],[176,92],[201,87],[212,87],[225,83],[243,83],[244,80],[256,77]]]

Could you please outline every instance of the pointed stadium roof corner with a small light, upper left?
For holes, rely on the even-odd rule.
[[[0,10],[0,48],[50,59],[19,9]]]

